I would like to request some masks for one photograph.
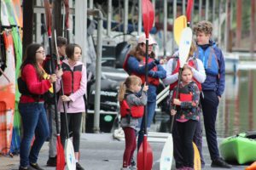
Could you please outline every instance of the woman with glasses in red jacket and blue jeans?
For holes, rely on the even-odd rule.
[[[44,59],[43,46],[32,43],[26,48],[25,59],[20,66],[19,111],[23,125],[23,138],[20,143],[19,170],[42,169],[37,163],[38,154],[44,141],[49,137],[43,96],[51,87],[51,83],[62,75],[62,71],[58,71],[56,74],[45,76],[45,71],[41,66]],[[35,140],[32,142],[33,136]]]

